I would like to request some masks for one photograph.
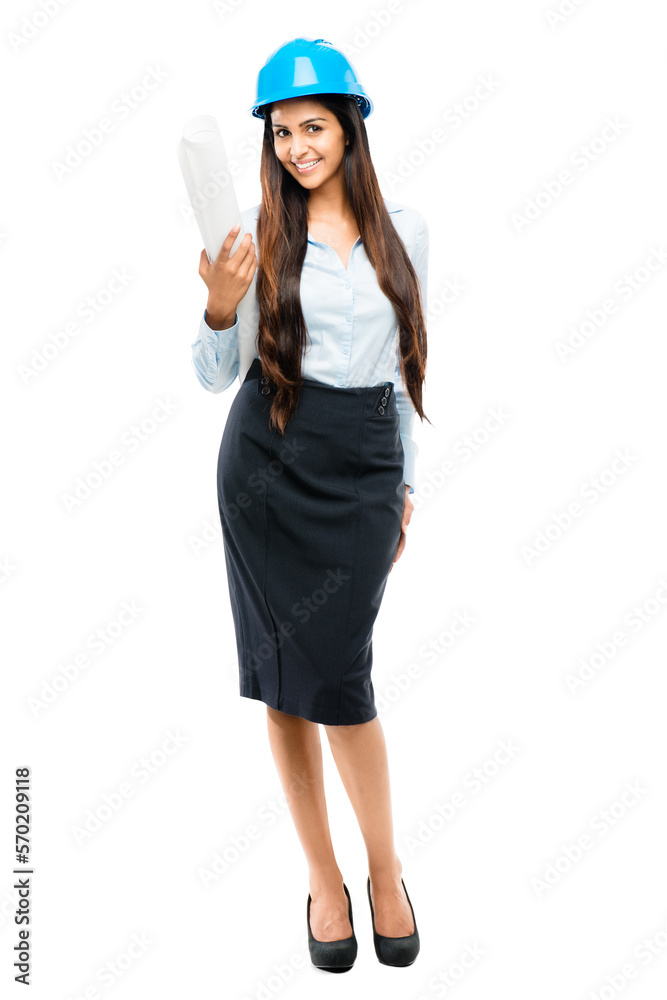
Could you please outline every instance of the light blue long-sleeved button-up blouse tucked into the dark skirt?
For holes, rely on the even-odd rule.
[[[428,226],[416,209],[386,198],[384,203],[419,278],[426,316]],[[255,246],[259,208],[255,205],[241,213],[243,228],[252,233]],[[314,240],[308,233],[300,291],[309,334],[301,362],[303,377],[332,386],[394,384],[404,455],[403,481],[414,493],[419,451],[413,438],[416,414],[398,364],[398,322],[394,307],[378,285],[361,237],[350,251],[346,270],[333,247]],[[256,293],[251,305],[254,312],[250,310],[249,320],[254,321],[256,331]],[[204,310],[198,337],[191,345],[195,374],[210,392],[227,389],[238,375],[238,313],[234,318],[234,326],[228,330],[212,330]]]

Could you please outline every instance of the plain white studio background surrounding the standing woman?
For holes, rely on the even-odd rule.
[[[664,32],[649,0],[563,0],[560,19],[557,3],[3,6],[5,995],[24,995],[13,786],[28,765],[34,997],[664,996]],[[207,393],[190,365],[206,289],[176,158],[182,124],[214,115],[239,204],[259,201],[248,109],[260,67],[297,35],[348,54],[375,103],[383,194],[421,211],[431,239],[433,426],[417,426],[417,509],[373,642],[422,947],[408,969],[375,958],[365,848],[322,729],[359,940],[344,981],[310,965],[307,867],[265,708],[238,695],[216,497],[238,382]],[[164,78],[121,118],[114,102],[150,69]],[[105,117],[111,133],[58,176]],[[107,302],[114,270],[128,283]],[[504,417],[485,427],[492,411]],[[116,449],[122,464],[68,510]],[[124,602],[140,610],[116,628]],[[457,614],[474,619],[458,636]],[[98,629],[113,637],[101,654]],[[169,733],[182,743],[165,755]],[[229,865],[205,888],[216,853]]]

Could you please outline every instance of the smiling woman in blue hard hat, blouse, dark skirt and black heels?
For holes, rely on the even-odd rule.
[[[232,257],[238,228],[212,265],[202,251],[208,303],[192,345],[201,384],[228,388],[236,309],[257,271],[255,358],[218,459],[240,693],[267,705],[309,866],[313,964],[346,971],[357,953],[327,819],[322,724],[365,840],[377,957],[410,965],[419,935],[370,674],[373,624],[414,509],[428,230],[418,212],[383,200],[364,125],[372,104],[329,42],[276,50],[251,111],[264,120],[262,202],[242,213]]]

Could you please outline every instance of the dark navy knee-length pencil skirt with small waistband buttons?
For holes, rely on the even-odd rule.
[[[255,358],[218,456],[240,694],[324,725],[368,722],[405,500],[393,384],[304,379],[284,434],[269,426],[274,396]]]

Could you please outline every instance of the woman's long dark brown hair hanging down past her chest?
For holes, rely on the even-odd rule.
[[[356,100],[347,95],[318,94],[316,99],[336,115],[350,140],[343,157],[347,196],[378,284],[396,311],[400,370],[405,386],[421,420],[428,420],[422,408],[426,325],[419,279],[385,207],[371,160],[364,119]],[[272,106],[269,104],[264,109],[260,168],[257,350],[266,375],[276,386],[269,423],[283,433],[299,400],[301,360],[308,334],[300,296],[301,268],[308,242],[308,192],[276,156]]]

